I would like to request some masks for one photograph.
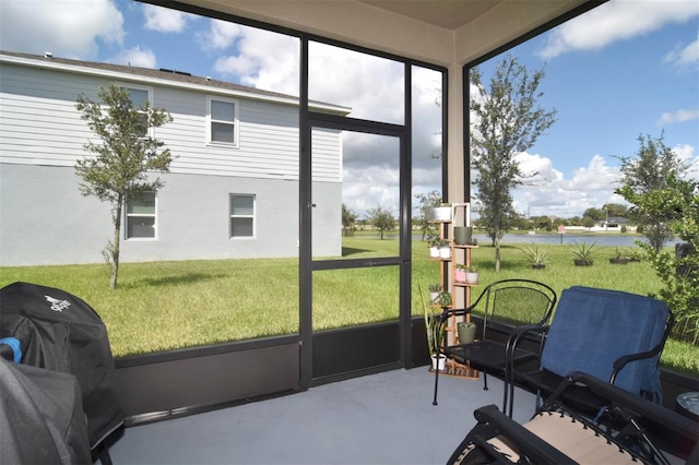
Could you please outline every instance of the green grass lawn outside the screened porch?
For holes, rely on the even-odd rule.
[[[344,258],[395,255],[395,240],[343,239]],[[613,247],[595,248],[593,266],[574,266],[567,246],[540,246],[548,252],[545,270],[532,270],[519,246],[502,246],[500,273],[494,250],[473,250],[481,287],[497,279],[530,277],[558,294],[572,285],[647,295],[661,283],[648,263],[612,265]],[[426,242],[413,243],[413,314],[422,315],[417,285],[427,291],[439,278],[439,263],[427,259]],[[58,287],[80,296],[102,315],[115,356],[153,353],[298,332],[298,261],[218,260],[125,263],[120,286],[108,287],[105,264],[0,267],[0,286],[15,281]],[[313,327],[327,330],[395,320],[399,312],[395,266],[313,273]],[[477,293],[477,289],[476,289]],[[662,363],[699,373],[699,347],[670,341]]]

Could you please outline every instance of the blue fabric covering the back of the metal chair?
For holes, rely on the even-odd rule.
[[[609,381],[614,361],[647,351],[663,339],[670,310],[665,302],[619,290],[573,286],[561,294],[542,354],[542,368],[559,375],[583,371]],[[631,361],[615,385],[661,398],[655,357]]]

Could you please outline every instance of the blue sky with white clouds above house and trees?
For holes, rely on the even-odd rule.
[[[177,69],[297,93],[295,39],[129,0],[0,0],[0,48]],[[516,191],[519,212],[570,217],[620,203],[613,193],[619,176],[615,156],[632,156],[639,134],[655,138],[664,130],[665,144],[699,169],[699,2],[613,0],[511,52],[530,70],[546,65],[540,102],[558,110],[548,133],[520,155],[524,170],[540,171],[545,182]],[[384,120],[401,111],[394,85],[400,67],[362,58],[358,75],[356,57],[318,53],[323,85],[316,98]],[[482,65],[486,76],[498,59]],[[324,85],[343,79],[341,86]],[[415,138],[416,154],[439,151],[436,82],[430,73],[417,80],[424,133]],[[351,159],[346,165],[352,167]],[[416,192],[439,186],[438,163],[416,156],[415,165]],[[363,174],[354,186],[352,176],[345,178],[353,210],[398,204],[390,168],[377,163]]]

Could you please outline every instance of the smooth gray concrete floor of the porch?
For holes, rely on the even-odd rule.
[[[475,425],[473,410],[500,405],[502,382],[439,378],[426,367],[311,388],[307,392],[127,428],[115,464],[443,464]],[[518,390],[513,418],[534,395]]]

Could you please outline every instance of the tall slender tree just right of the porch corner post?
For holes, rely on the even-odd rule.
[[[524,152],[556,121],[536,99],[544,70],[530,74],[508,55],[496,68],[489,88],[478,68],[471,70],[471,160],[478,212],[495,246],[495,270],[500,271],[500,237],[516,216],[510,189],[536,174],[523,174],[516,155]]]

